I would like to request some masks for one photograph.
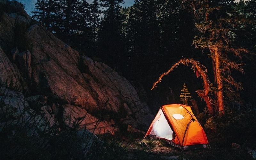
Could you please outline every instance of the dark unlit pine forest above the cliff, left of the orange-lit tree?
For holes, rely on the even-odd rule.
[[[126,9],[120,0],[100,2],[94,0],[81,10],[83,1],[72,0],[78,8],[71,6],[68,26],[68,0],[38,0],[32,17],[81,54],[101,60],[136,84],[152,82],[168,61],[190,51],[193,21],[179,0],[137,0]]]

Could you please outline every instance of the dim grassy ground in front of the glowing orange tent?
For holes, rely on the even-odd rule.
[[[116,150],[116,159],[130,160],[243,160],[252,159],[252,156],[243,149],[230,147],[213,147],[185,150],[176,148],[168,144],[165,140],[134,139],[125,141],[123,150]]]

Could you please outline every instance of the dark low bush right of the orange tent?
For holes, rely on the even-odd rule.
[[[231,143],[237,143],[255,149],[255,120],[256,112],[252,109],[226,110],[225,115],[208,118],[204,130],[215,147],[230,147]]]

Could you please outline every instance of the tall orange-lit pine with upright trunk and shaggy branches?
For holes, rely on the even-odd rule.
[[[234,80],[231,72],[232,70],[243,72],[243,64],[237,61],[241,60],[242,54],[247,51],[233,42],[244,19],[236,12],[236,3],[233,0],[202,2],[183,0],[183,2],[184,6],[190,6],[189,9],[196,17],[198,34],[193,43],[196,48],[206,50],[212,60],[214,84],[217,88],[216,111],[224,113],[224,96],[229,96],[225,95],[225,91],[231,93],[243,88],[241,83]]]

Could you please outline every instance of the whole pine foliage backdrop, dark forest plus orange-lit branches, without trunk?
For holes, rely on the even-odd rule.
[[[206,55],[200,52],[208,54],[210,61],[214,62],[213,52],[210,52],[214,50],[207,46],[218,44],[220,79],[223,82],[221,91],[224,94],[221,97],[226,98],[225,102],[239,101],[237,92],[242,88],[241,83],[235,81],[235,70],[243,71],[240,60],[246,52],[243,48],[255,51],[254,0],[240,2],[237,6],[231,0],[208,1],[209,5],[206,1],[191,4],[190,0],[183,3],[180,0],[136,0],[128,8],[121,8],[119,2],[123,1],[111,1],[110,4],[110,1],[94,0],[87,4],[84,0],[38,0],[34,18],[81,54],[108,64],[134,85],[142,85],[146,91],[156,75],[169,67],[168,64],[191,57],[213,70],[209,77],[213,78],[212,88],[216,90],[212,93],[217,98],[217,86],[220,85],[214,80],[216,66],[212,66],[205,59]],[[68,3],[71,8],[67,7]],[[196,15],[196,25],[192,14],[182,5],[187,9],[191,6],[189,10]],[[193,38],[201,50],[191,47]],[[148,92],[150,97],[156,96],[153,94]]]

